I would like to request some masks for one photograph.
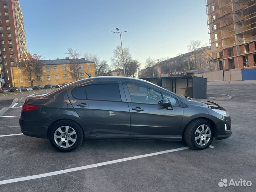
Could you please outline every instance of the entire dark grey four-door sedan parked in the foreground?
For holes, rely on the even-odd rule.
[[[47,138],[62,152],[89,138],[183,138],[201,150],[213,138],[232,133],[231,118],[217,103],[187,99],[142,79],[113,76],[82,79],[49,94],[28,96],[19,123],[23,134]]]

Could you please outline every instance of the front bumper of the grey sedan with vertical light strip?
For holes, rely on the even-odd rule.
[[[226,139],[232,134],[231,131],[231,118],[223,117],[217,124],[217,133],[215,133],[215,139]],[[226,127],[226,128],[225,128]]]

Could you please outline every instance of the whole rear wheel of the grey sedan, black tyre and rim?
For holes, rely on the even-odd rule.
[[[61,120],[49,130],[50,144],[58,151],[70,152],[78,148],[84,138],[84,132],[78,123],[70,120]]]

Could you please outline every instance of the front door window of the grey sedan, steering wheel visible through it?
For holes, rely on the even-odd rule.
[[[159,105],[162,100],[161,93],[150,87],[133,83],[127,83],[127,87],[133,103]]]

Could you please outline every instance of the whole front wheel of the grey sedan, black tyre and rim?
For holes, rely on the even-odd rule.
[[[208,148],[213,140],[213,128],[206,119],[195,119],[184,130],[184,140],[192,149]]]

